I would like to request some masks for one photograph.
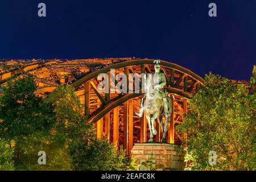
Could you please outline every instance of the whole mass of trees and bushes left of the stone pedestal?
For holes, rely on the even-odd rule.
[[[82,115],[75,89],[59,86],[36,97],[32,75],[14,75],[0,96],[0,169],[129,170],[135,159],[108,140],[98,140]],[[5,139],[5,140],[3,140]],[[11,144],[9,144],[11,143]],[[46,165],[38,152],[46,152]]]

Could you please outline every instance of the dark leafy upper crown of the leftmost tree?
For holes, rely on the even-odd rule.
[[[0,137],[16,140],[49,131],[53,124],[52,107],[35,96],[36,84],[32,75],[14,75],[2,90]]]

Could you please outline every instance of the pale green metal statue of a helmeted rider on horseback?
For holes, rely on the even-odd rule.
[[[155,60],[155,73],[144,75],[144,90],[145,96],[141,101],[141,109],[137,114],[142,117],[145,111],[148,128],[150,130],[150,139],[148,142],[153,141],[153,135],[157,134],[154,127],[155,119],[158,120],[159,126],[162,129],[163,138],[162,143],[166,142],[166,133],[168,122],[171,116],[171,98],[164,92],[164,85],[166,85],[166,75],[160,70],[160,60]],[[165,124],[163,123],[165,117]]]

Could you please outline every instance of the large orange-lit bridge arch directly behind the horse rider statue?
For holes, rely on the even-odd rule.
[[[171,97],[174,105],[170,125],[168,126],[168,142],[179,143],[180,138],[175,133],[175,126],[183,121],[183,114],[189,112],[187,100],[196,93],[200,85],[204,84],[203,78],[195,73],[180,67],[177,64],[161,61],[162,72],[166,75],[167,85],[165,90]],[[137,59],[114,63],[104,68],[98,68],[88,75],[68,82],[76,88],[77,96],[84,105],[85,115],[89,122],[93,122],[97,129],[97,137],[107,137],[112,142],[122,144],[130,153],[134,142],[147,141],[147,121],[145,116],[139,118],[135,115],[141,105],[143,94],[140,93],[99,93],[97,77],[100,73],[110,76],[110,69],[115,69],[115,75],[124,73],[154,73],[154,60]],[[114,80],[114,84],[117,84]],[[141,85],[141,84],[140,84]],[[160,140],[162,133],[156,122],[156,141]]]

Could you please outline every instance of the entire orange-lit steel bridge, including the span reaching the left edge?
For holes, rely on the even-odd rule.
[[[50,60],[16,70],[18,73],[28,71],[35,76],[38,86],[36,94],[39,96],[45,96],[60,84],[73,86],[81,104],[84,105],[84,114],[96,127],[97,137],[109,138],[111,142],[123,145],[127,153],[130,153],[134,142],[147,142],[149,135],[145,116],[139,118],[134,114],[141,106],[142,84],[140,82],[139,93],[102,94],[97,90],[101,82],[97,77],[100,73],[106,73],[113,78],[115,86],[119,81],[115,78],[118,73],[123,73],[127,77],[129,73],[154,73],[154,60],[115,59],[108,61],[108,64],[97,67],[94,65],[93,68],[86,64],[86,60]],[[168,125],[168,142],[180,143],[181,139],[176,135],[175,126],[183,121],[183,114],[189,112],[187,100],[204,84],[204,80],[177,64],[161,61],[160,65],[167,79],[165,89],[174,103]],[[115,69],[114,73],[111,72],[112,69]],[[14,71],[0,74],[0,85],[4,85],[6,78],[13,74]],[[132,85],[135,86],[134,80]],[[111,91],[112,88],[109,87],[108,90]],[[160,141],[162,133],[157,122],[156,130],[158,135],[155,140]]]

